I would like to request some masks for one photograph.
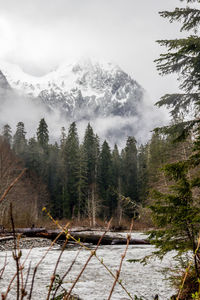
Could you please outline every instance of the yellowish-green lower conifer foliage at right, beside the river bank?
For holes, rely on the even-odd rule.
[[[160,229],[151,232],[151,241],[159,247],[158,253],[161,255],[171,250],[177,250],[179,254],[188,250],[195,253],[200,211],[193,192],[195,184],[189,174],[188,161],[167,164],[163,171],[173,184],[168,193],[153,191],[156,201],[151,205],[151,210],[154,222]],[[196,272],[198,275],[198,268]]]

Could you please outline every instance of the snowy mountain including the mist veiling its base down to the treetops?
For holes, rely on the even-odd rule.
[[[34,133],[45,117],[54,140],[62,126],[68,128],[76,121],[81,138],[90,122],[100,138],[112,145],[124,146],[127,136],[146,142],[150,130],[165,119],[120,67],[90,59],[63,63],[41,77],[0,61],[0,96],[0,126],[9,123],[14,129],[23,121],[27,132]]]

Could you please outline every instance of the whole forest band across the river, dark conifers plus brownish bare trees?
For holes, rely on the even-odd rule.
[[[44,119],[35,137],[29,139],[22,122],[13,135],[8,124],[2,130],[1,193],[20,170],[27,169],[13,195],[8,196],[24,212],[21,219],[23,223],[28,220],[27,225],[40,218],[43,206],[55,218],[87,219],[90,226],[95,226],[97,219],[107,221],[111,217],[120,226],[123,218],[137,218],[140,213],[145,222],[147,216],[142,207],[151,203],[149,190],[167,185],[160,167],[188,155],[191,149],[189,141],[172,144],[169,138],[154,133],[146,145],[137,145],[134,137],[128,137],[125,148],[119,151],[117,145],[111,149],[106,140],[101,144],[90,124],[80,143],[75,122],[68,132],[61,129],[59,142],[51,144],[49,135]],[[19,198],[18,202],[13,197]],[[1,204],[2,224],[7,222],[8,203]]]

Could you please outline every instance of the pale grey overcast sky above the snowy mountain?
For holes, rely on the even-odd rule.
[[[177,89],[153,60],[157,39],[181,36],[158,11],[178,0],[0,0],[0,59],[42,75],[74,57],[114,61],[149,93],[152,102]]]

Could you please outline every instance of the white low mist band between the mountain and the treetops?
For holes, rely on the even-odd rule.
[[[94,132],[100,137],[101,143],[104,139],[108,140],[110,145],[116,143],[119,148],[125,146],[128,136],[134,136],[138,144],[146,143],[151,137],[151,130],[157,126],[162,126],[168,121],[166,111],[157,109],[150,105],[146,96],[140,105],[138,105],[138,115],[131,117],[109,116],[92,117],[92,111],[88,112],[87,119],[77,121],[77,128],[80,141],[83,141],[85,129],[88,122],[94,129]],[[50,110],[38,99],[32,100],[19,94],[9,92],[2,98],[0,120],[1,127],[9,124],[12,127],[13,134],[16,130],[16,124],[24,122],[27,138],[36,136],[37,127],[41,118],[45,118],[51,142],[59,141],[61,127],[68,131],[69,125],[73,119],[63,116],[59,110]]]

